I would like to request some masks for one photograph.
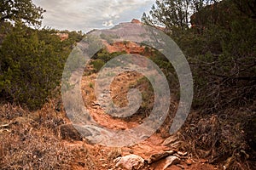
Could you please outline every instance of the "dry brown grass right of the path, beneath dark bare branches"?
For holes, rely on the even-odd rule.
[[[222,115],[191,114],[182,129],[185,150],[227,169],[255,169],[255,151],[247,143],[243,124],[252,114],[236,109]]]

